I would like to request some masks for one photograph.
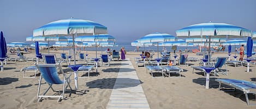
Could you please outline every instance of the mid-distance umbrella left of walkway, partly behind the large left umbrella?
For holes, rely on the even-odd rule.
[[[91,36],[78,36],[75,38],[75,41],[81,41],[81,42],[94,42],[96,46],[96,57],[97,57],[97,47],[101,44],[109,44],[110,42],[113,42],[113,45],[115,44],[115,37],[111,36],[109,34],[98,34],[98,35],[91,35]],[[97,44],[98,43],[98,44]],[[101,46],[100,46],[101,47]]]

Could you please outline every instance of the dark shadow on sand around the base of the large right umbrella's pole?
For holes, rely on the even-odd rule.
[[[217,78],[210,78],[210,88],[219,88],[219,82],[215,81]],[[192,80],[194,83],[205,86],[205,78],[197,78]]]

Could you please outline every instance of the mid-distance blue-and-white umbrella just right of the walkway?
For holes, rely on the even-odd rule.
[[[153,34],[148,34],[146,36],[141,37],[138,40],[140,43],[155,43],[157,44],[157,58],[159,58],[159,53],[158,53],[158,43],[159,42],[166,42],[166,41],[177,41],[177,37],[165,34],[165,33],[153,33]]]

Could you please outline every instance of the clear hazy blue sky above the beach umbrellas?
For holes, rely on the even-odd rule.
[[[256,31],[256,0],[1,0],[0,4],[0,30],[7,42],[25,42],[33,29],[70,17],[105,25],[118,42],[156,31],[176,36],[178,29],[209,21]]]

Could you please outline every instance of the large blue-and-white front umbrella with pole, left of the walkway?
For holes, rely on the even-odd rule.
[[[78,72],[76,72],[76,69],[78,69],[79,66],[76,66],[75,59],[75,36],[97,35],[107,33],[107,28],[102,24],[93,21],[69,18],[66,20],[58,20],[51,23],[47,23],[42,27],[35,29],[33,31],[33,36],[72,36],[74,48],[73,69],[75,71],[75,89],[78,89]]]

